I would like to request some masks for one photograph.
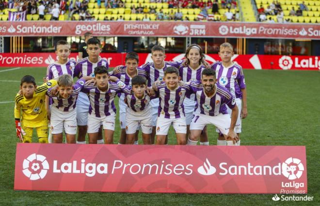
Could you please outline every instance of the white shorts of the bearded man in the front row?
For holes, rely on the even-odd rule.
[[[203,130],[207,124],[213,124],[223,134],[228,134],[230,128],[231,118],[229,114],[219,114],[218,116],[208,116],[194,113],[192,118],[190,130]]]

